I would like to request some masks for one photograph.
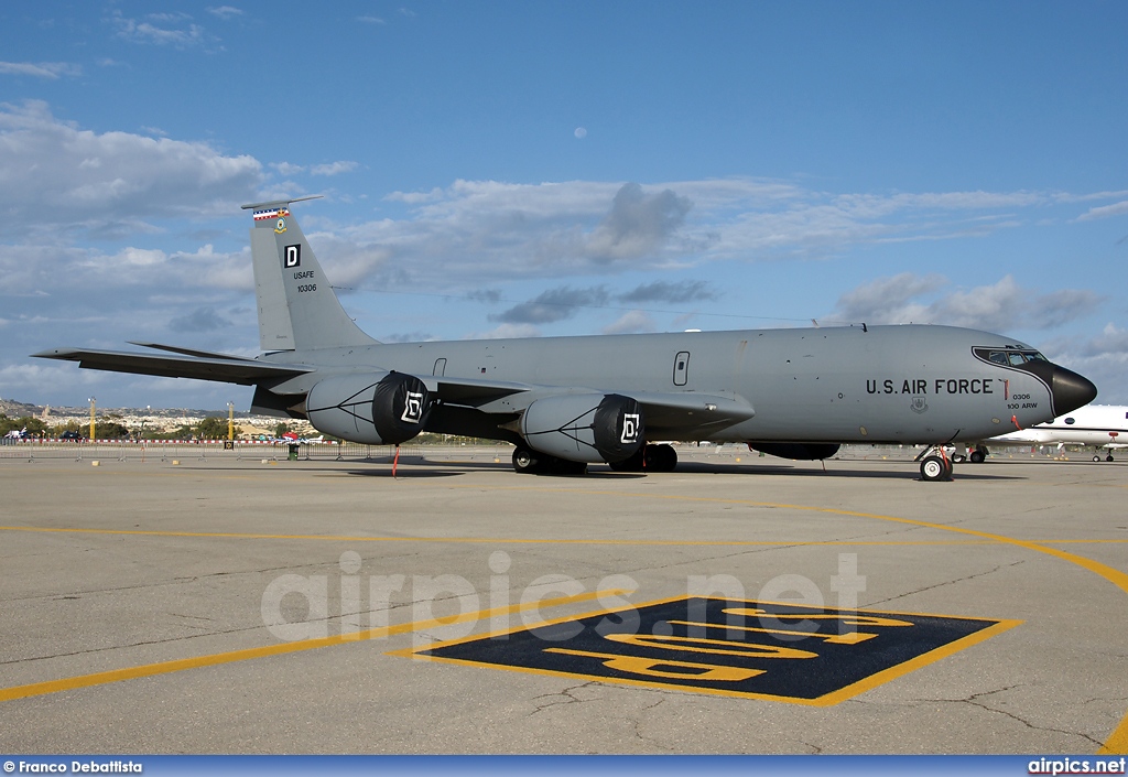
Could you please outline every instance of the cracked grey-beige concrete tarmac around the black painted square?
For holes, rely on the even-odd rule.
[[[645,478],[422,460],[400,461],[398,479],[356,462],[2,462],[0,750],[1123,747],[1128,590],[1114,575],[1128,573],[1128,465],[992,459],[925,483],[908,460],[822,473],[686,459]],[[389,655],[597,612],[594,592],[613,584],[635,604],[708,579],[835,606],[843,555],[856,556],[862,609],[1022,622],[827,707]],[[311,587],[274,601],[283,578]],[[549,602],[575,592],[589,599]],[[325,643],[275,649],[287,643],[266,623],[272,608]],[[205,656],[223,660],[99,674]],[[34,692],[5,696],[24,686]]]

